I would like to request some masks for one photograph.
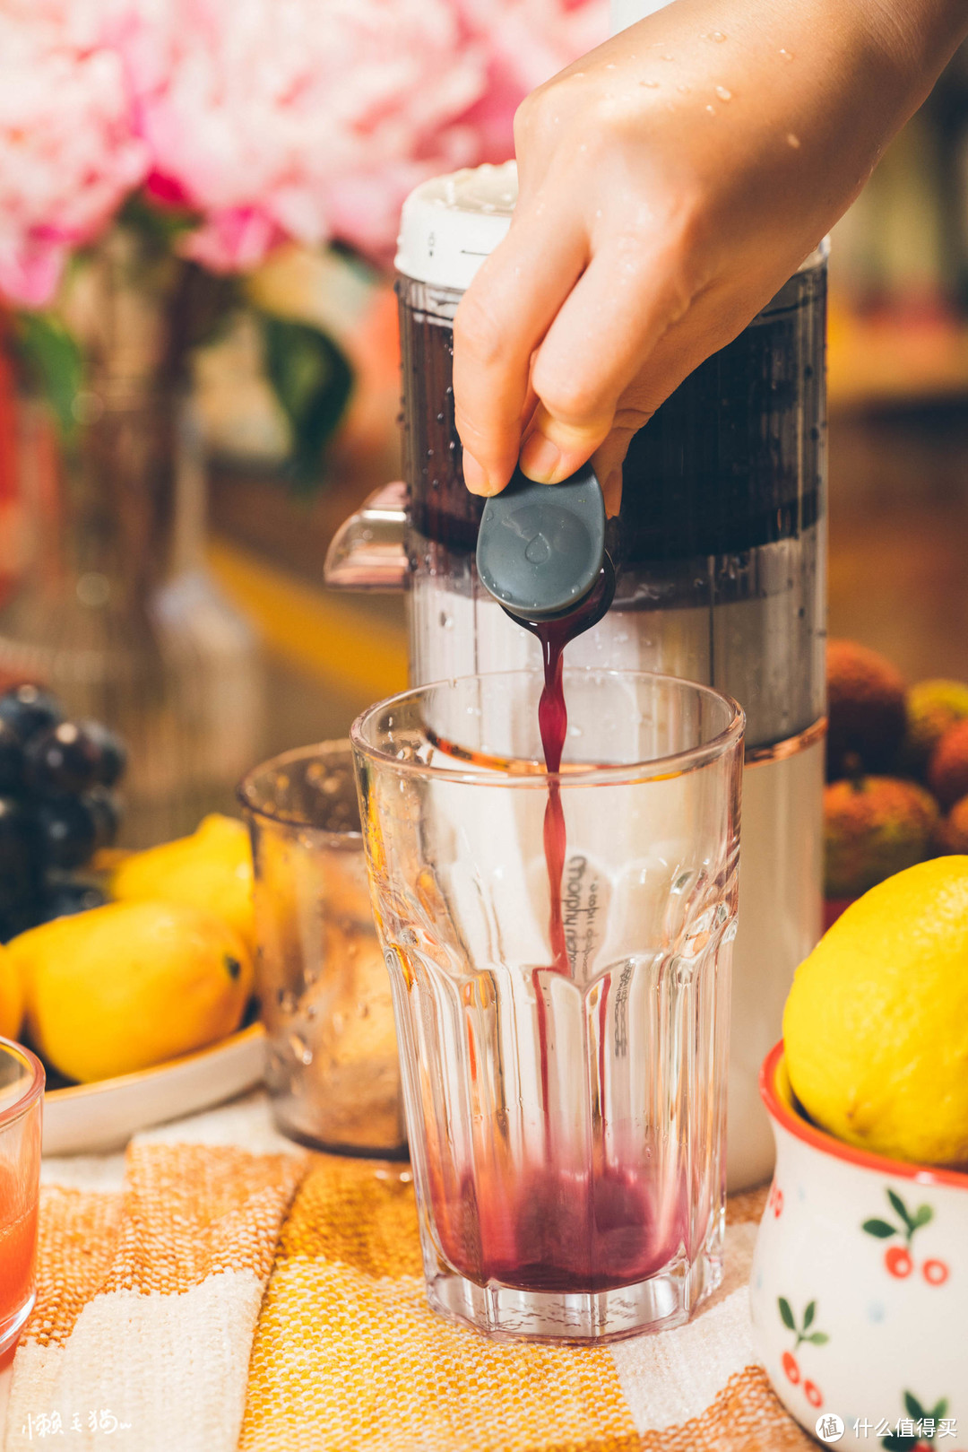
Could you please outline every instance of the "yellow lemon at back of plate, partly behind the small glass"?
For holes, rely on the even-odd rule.
[[[132,852],[115,870],[110,894],[116,902],[205,908],[254,947],[253,852],[235,817],[208,816],[192,836]]]

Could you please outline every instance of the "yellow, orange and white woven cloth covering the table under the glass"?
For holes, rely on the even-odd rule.
[[[296,1153],[261,1096],[123,1157],[48,1162],[45,1180],[38,1304],[0,1378],[4,1452],[813,1446],[752,1350],[762,1195],[731,1204],[726,1284],[689,1326],[559,1349],[437,1318],[409,1172]]]

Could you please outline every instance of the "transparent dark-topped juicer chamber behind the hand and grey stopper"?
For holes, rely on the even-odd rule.
[[[824,279],[817,257],[633,440],[610,527],[615,600],[569,648],[569,665],[665,671],[734,694],[753,751],[824,709]],[[462,293],[409,277],[398,292],[414,680],[537,668],[540,646],[475,569],[483,501],[463,486],[450,385]]]

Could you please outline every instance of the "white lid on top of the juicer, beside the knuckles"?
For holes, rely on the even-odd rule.
[[[518,167],[464,167],[421,183],[403,202],[396,270],[463,292],[511,225]]]

